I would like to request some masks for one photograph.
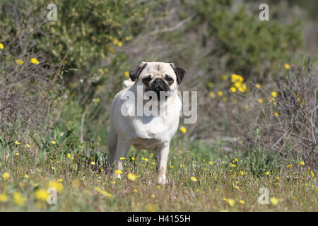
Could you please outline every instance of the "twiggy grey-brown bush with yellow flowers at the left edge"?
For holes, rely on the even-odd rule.
[[[37,50],[38,40],[33,38],[46,34],[40,18],[25,20],[25,12],[3,7],[7,14],[0,20],[0,133],[12,142],[13,134],[24,136],[28,129],[42,127],[49,113],[47,100],[56,97],[49,90],[55,92],[59,85],[49,88],[56,69],[49,56]]]

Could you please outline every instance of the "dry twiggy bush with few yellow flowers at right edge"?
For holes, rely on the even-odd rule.
[[[259,128],[268,150],[317,168],[317,64],[309,58],[299,69],[288,64],[286,68],[286,76],[254,88],[248,119],[241,115],[245,134]]]

